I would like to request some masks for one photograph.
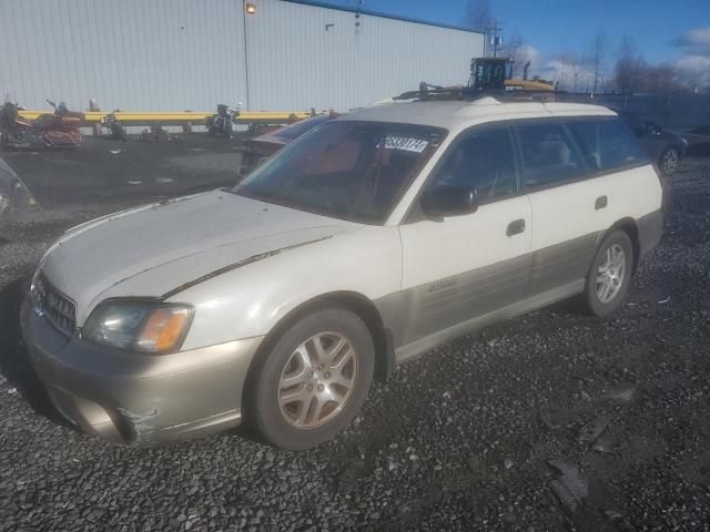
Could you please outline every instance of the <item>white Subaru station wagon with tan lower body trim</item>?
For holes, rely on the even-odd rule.
[[[87,432],[155,444],[248,423],[305,449],[435,346],[572,296],[613,311],[660,209],[656,170],[608,109],[378,104],[233,188],[69,231],[23,335]]]

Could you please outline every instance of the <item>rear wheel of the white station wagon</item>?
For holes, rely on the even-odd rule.
[[[595,255],[587,282],[584,303],[586,309],[595,316],[608,316],[613,313],[626,296],[633,268],[633,246],[622,231],[607,235]]]

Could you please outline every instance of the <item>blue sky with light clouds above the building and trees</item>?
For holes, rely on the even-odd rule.
[[[355,7],[357,0],[322,0]],[[458,24],[467,0],[363,0],[371,11]],[[652,64],[668,62],[710,82],[710,0],[489,0],[505,35],[523,37],[534,49],[532,71],[546,71],[555,57],[587,52],[598,30],[610,59],[623,35]],[[536,64],[537,63],[537,64]]]

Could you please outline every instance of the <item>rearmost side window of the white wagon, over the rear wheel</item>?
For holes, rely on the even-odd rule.
[[[609,171],[643,163],[646,155],[619,120],[580,120],[567,124],[591,170]]]

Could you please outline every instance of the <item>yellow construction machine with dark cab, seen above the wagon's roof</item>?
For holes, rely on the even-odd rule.
[[[476,91],[550,91],[557,90],[551,81],[535,78],[528,80],[527,62],[523,79],[513,79],[513,61],[506,58],[474,58],[470,60],[468,88]]]

